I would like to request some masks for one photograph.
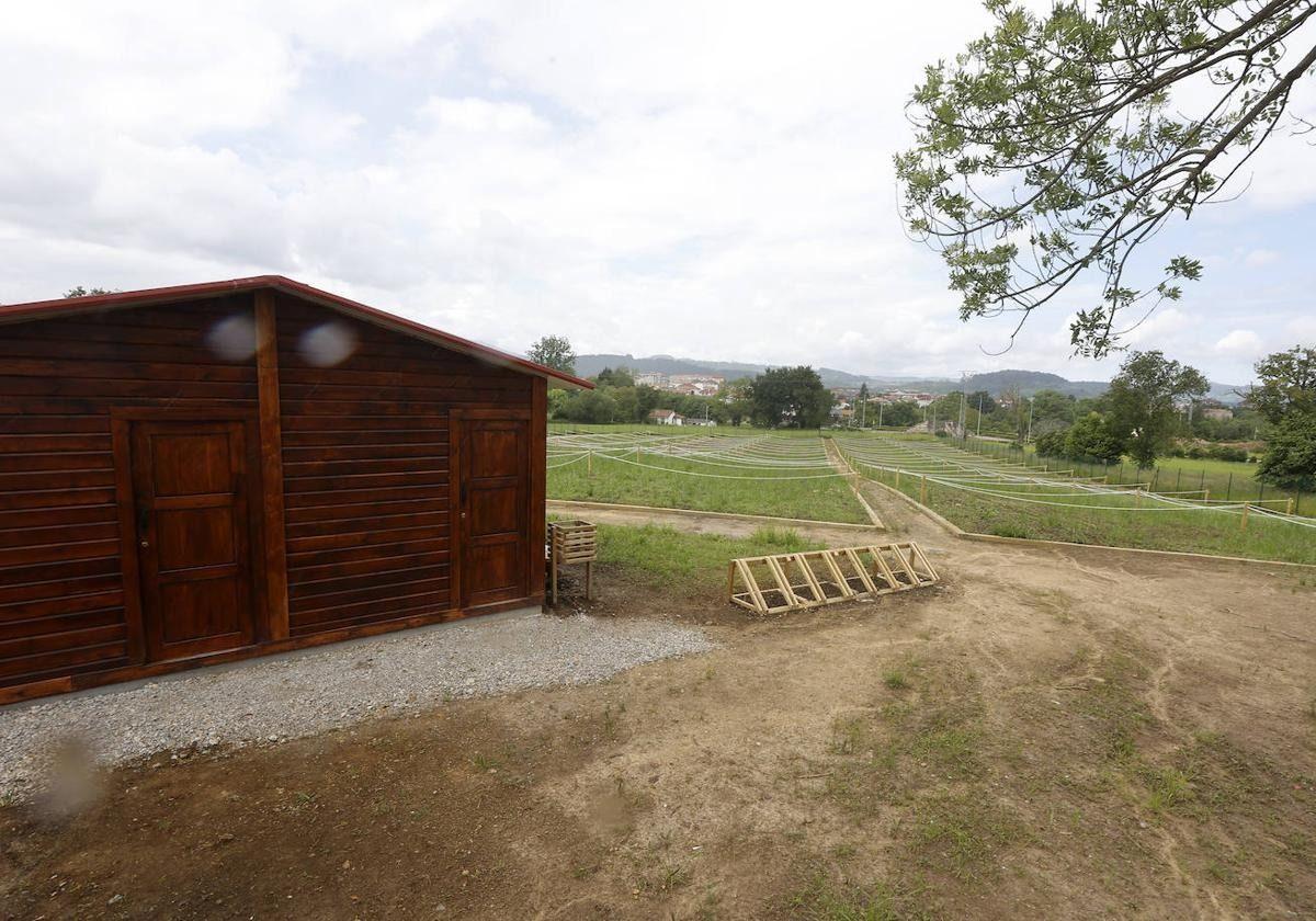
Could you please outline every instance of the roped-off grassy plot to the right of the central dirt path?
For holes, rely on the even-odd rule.
[[[861,441],[851,439],[848,445],[857,451],[863,450]],[[959,484],[924,483],[920,474],[913,472],[920,470],[917,464],[946,464],[940,470],[954,470],[949,464],[959,463],[988,471],[994,467],[990,458],[961,451],[945,442],[930,446],[924,442],[919,450],[932,454],[911,457],[899,483],[890,468],[862,463],[858,468],[865,476],[896,487],[912,499],[925,497],[929,508],[969,532],[1316,564],[1316,529],[1299,524],[1253,513],[1244,528],[1242,516],[1237,510],[1167,510],[1146,497],[1109,493],[1083,496],[1078,487],[1065,484],[1024,488],[974,480]],[[936,458],[936,462],[929,457]],[[1001,466],[1001,470],[1008,468]],[[966,474],[959,471],[957,475]],[[988,474],[983,474],[983,478],[987,476]],[[1112,505],[1119,508],[1111,508]]]

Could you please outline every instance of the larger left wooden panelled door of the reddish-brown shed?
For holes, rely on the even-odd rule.
[[[253,641],[247,447],[240,420],[133,422],[133,504],[149,662]]]

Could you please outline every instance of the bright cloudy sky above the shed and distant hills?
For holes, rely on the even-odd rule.
[[[1011,324],[959,322],[903,230],[904,104],[986,26],[961,0],[14,5],[0,301],[272,272],[516,353],[553,333],[1107,378],[1119,358],[1070,355],[1083,291],[991,354]],[[1163,232],[1205,279],[1130,345],[1234,384],[1316,345],[1313,167],[1309,138],[1277,137],[1238,201]]]

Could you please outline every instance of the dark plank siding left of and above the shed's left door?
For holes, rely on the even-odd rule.
[[[254,409],[254,361],[216,339],[250,304],[0,329],[0,685],[132,662],[111,408]]]

